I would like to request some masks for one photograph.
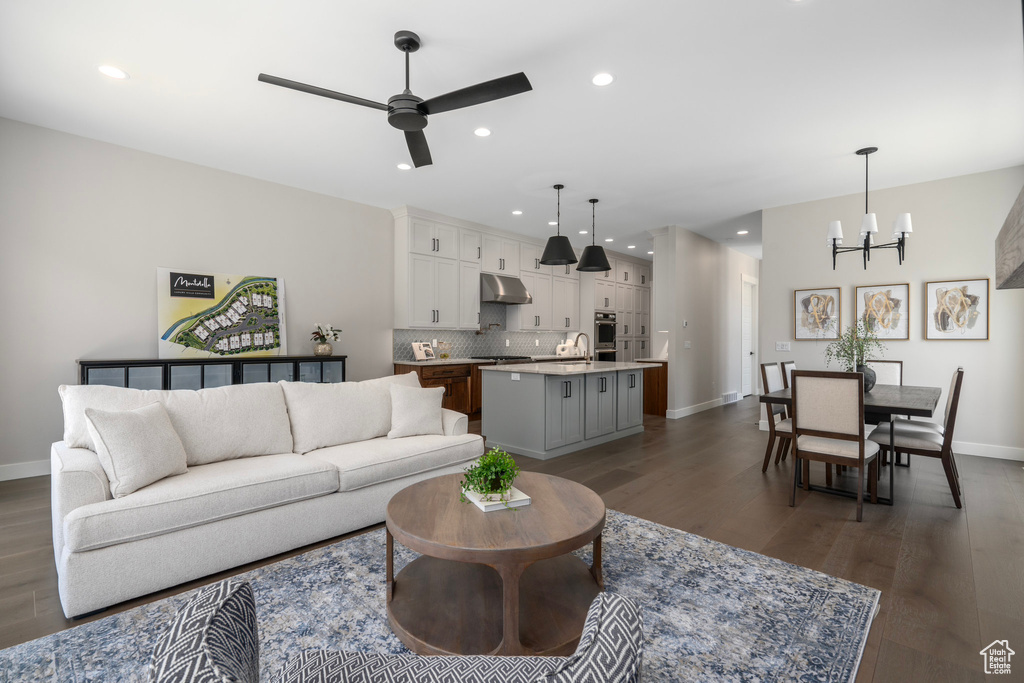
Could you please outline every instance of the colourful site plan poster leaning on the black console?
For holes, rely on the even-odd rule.
[[[157,268],[161,358],[287,355],[285,281]]]

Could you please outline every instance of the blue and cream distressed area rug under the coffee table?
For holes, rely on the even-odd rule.
[[[578,553],[588,563],[590,549]],[[643,605],[645,681],[852,681],[879,591],[612,510],[605,586]],[[395,543],[395,571],[415,555]],[[384,530],[241,574],[262,680],[306,648],[406,652],[384,609]],[[0,681],[144,681],[194,593],[0,650]]]

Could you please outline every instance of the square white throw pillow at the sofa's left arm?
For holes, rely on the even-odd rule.
[[[87,408],[85,419],[114,498],[187,469],[185,449],[160,403],[117,412]]]

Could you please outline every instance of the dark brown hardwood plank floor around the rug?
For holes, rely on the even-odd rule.
[[[939,462],[914,458],[896,470],[896,504],[865,503],[858,523],[855,503],[844,498],[799,490],[788,507],[792,460],[761,472],[767,433],[758,417],[753,397],[681,420],[645,416],[643,434],[554,460],[518,460],[525,470],[587,484],[609,508],[881,590],[858,681],[982,681],[982,647],[1008,639],[1024,651],[1022,463],[958,456],[965,502],[957,510]],[[823,478],[813,467],[812,480]],[[887,485],[884,470],[880,493]],[[49,477],[0,482],[0,648],[312,547],[72,622],[57,600]],[[613,552],[604,549],[605,557]]]

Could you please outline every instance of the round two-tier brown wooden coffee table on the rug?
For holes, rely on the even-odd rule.
[[[523,472],[515,486],[532,502],[483,512],[459,500],[461,481],[420,481],[387,506],[391,629],[419,654],[570,654],[604,590],[604,502],[574,481]],[[421,553],[397,577],[394,540]],[[588,567],[569,553],[591,542]]]

